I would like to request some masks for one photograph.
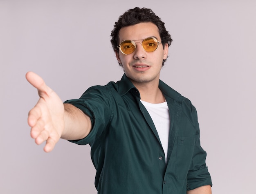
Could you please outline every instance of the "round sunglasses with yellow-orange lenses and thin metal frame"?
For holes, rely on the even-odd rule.
[[[137,47],[134,41],[136,40],[123,40],[117,47],[123,54],[125,55],[131,54],[135,51]],[[160,43],[161,42],[159,42],[155,37],[148,37],[142,40],[142,42],[140,42],[143,49],[147,52],[153,52],[157,50]]]

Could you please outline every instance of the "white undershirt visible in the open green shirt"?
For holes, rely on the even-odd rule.
[[[155,124],[155,128],[164,149],[165,161],[167,161],[168,137],[170,130],[170,115],[167,102],[151,104],[141,100],[141,103],[145,106]]]

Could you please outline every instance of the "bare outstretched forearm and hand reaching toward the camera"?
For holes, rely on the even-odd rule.
[[[60,138],[82,139],[89,134],[92,124],[87,115],[71,104],[63,105],[58,95],[35,73],[28,72],[26,78],[40,97],[28,115],[31,137],[36,144],[46,141],[44,150],[50,152]]]

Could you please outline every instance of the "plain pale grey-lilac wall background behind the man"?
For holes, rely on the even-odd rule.
[[[34,71],[61,99],[123,75],[110,44],[119,15],[148,7],[173,38],[161,79],[198,110],[213,193],[255,193],[256,1],[0,0],[0,193],[95,194],[90,146],[30,137]]]

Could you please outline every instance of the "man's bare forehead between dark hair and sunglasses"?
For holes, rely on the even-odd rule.
[[[123,40],[142,40],[150,36],[155,36],[158,40],[161,39],[157,26],[151,22],[139,23],[121,28],[119,42]]]

